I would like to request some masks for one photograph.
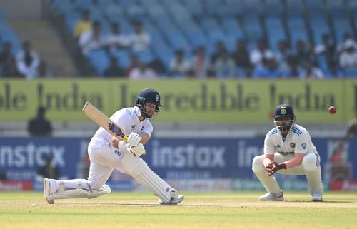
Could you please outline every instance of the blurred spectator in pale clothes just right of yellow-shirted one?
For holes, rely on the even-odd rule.
[[[86,55],[89,51],[100,49],[104,45],[104,38],[101,35],[101,24],[99,21],[94,21],[92,29],[86,31],[79,37],[79,46],[82,54]]]

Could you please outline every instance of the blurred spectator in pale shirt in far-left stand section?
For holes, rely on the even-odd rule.
[[[19,72],[27,79],[38,76],[39,55],[32,50],[30,41],[24,41],[22,51],[16,54],[16,66]]]

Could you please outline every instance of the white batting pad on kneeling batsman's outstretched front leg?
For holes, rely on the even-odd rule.
[[[131,153],[125,153],[122,161],[126,173],[129,173],[141,186],[158,196],[164,203],[171,200],[171,188],[163,179],[152,171],[146,162],[141,158],[136,158]]]

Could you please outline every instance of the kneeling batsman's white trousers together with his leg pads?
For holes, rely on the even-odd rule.
[[[88,193],[84,193],[84,190],[102,190],[106,188],[102,186],[114,169],[131,175],[140,185],[161,198],[164,203],[169,203],[171,192],[176,191],[154,171],[151,171],[143,159],[136,158],[131,153],[121,153],[109,144],[100,146],[89,144],[88,153],[91,160],[88,181],[85,179],[59,180],[56,185],[52,185],[52,187],[55,186],[54,193],[57,193],[53,198],[69,198],[69,195],[70,198],[87,197]],[[72,191],[74,189],[79,190],[78,193]]]

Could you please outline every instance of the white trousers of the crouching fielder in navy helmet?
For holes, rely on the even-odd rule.
[[[268,191],[268,193],[279,193],[281,188],[276,182],[276,178],[274,176],[268,177],[266,168],[263,165],[264,156],[256,156],[253,159],[252,169],[256,174],[258,179],[263,184],[264,188]],[[274,153],[274,161],[276,163],[283,163],[285,161],[290,160],[293,156],[283,156],[280,153]],[[320,166],[320,156],[318,153],[307,153],[306,156],[303,157],[303,161],[301,165],[295,166],[293,168],[281,169],[276,173],[287,174],[287,175],[306,175],[306,179],[308,180],[308,189],[311,194],[323,193],[323,184],[321,179],[321,166]]]

